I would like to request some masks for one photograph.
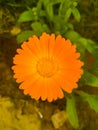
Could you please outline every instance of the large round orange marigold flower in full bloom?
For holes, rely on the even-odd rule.
[[[40,38],[30,37],[17,49],[12,69],[16,82],[24,94],[49,102],[63,98],[77,88],[83,73],[83,62],[78,58],[76,46],[61,35],[43,33]]]

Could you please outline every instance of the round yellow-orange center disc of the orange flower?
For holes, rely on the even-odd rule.
[[[43,77],[51,77],[57,71],[57,65],[51,59],[42,58],[37,64],[37,72]]]

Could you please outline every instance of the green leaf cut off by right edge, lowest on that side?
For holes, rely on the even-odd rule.
[[[89,95],[87,93],[82,92],[82,98],[87,101],[90,107],[98,112],[98,95]]]

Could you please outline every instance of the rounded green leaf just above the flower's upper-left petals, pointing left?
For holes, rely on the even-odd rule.
[[[17,42],[22,43],[26,41],[29,37],[31,37],[34,34],[33,31],[26,30],[22,31],[18,36],[17,36]]]

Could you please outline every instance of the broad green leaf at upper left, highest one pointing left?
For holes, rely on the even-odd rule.
[[[29,22],[32,20],[33,20],[33,12],[32,10],[28,10],[28,11],[23,12],[20,15],[18,22]]]

